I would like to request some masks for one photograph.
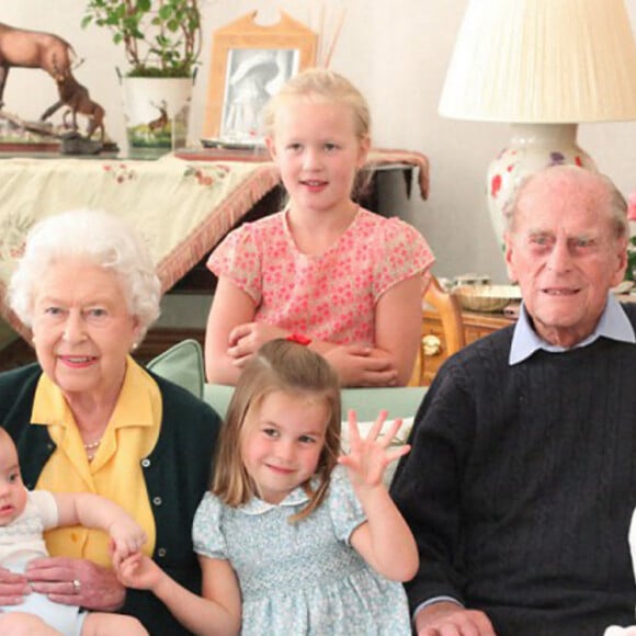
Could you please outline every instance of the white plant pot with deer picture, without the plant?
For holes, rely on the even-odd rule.
[[[130,156],[158,156],[186,145],[194,78],[121,78]]]

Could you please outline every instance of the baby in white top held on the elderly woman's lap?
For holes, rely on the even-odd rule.
[[[0,428],[0,567],[24,572],[30,560],[48,556],[43,537],[45,530],[80,524],[107,532],[114,554],[120,558],[138,552],[146,543],[144,530],[109,499],[89,492],[26,490],[15,444]],[[77,580],[68,583],[73,590],[80,584]],[[132,616],[90,613],[32,592],[22,604],[0,609],[0,634],[147,636],[148,632]]]

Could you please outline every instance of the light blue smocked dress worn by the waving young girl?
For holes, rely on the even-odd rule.
[[[254,498],[239,508],[206,493],[193,524],[194,549],[228,559],[242,594],[242,634],[410,635],[401,583],[373,570],[349,544],[365,520],[344,468],[308,518],[302,488],[275,506]]]

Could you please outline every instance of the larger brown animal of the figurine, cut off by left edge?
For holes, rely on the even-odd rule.
[[[72,46],[53,33],[15,29],[0,22],[0,106],[11,67],[41,68],[58,81],[70,75],[73,58]]]

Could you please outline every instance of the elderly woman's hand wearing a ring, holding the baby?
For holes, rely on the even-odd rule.
[[[34,592],[46,594],[55,603],[112,612],[126,598],[126,589],[112,570],[84,559],[34,559],[25,575]]]

